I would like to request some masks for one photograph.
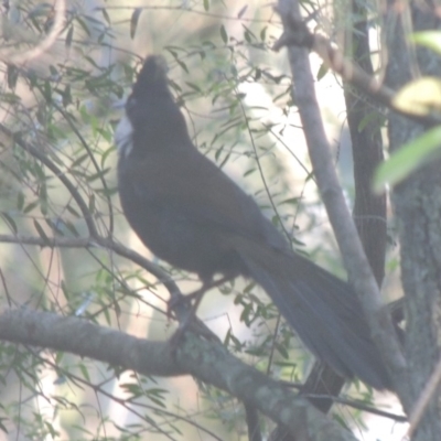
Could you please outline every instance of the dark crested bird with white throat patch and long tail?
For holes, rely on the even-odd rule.
[[[203,286],[216,275],[252,279],[319,359],[391,389],[353,287],[292,250],[256,201],[197,150],[161,55],[144,60],[125,110],[115,130],[120,203],[151,252]]]

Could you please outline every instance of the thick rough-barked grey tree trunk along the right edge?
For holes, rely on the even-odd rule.
[[[439,28],[429,4],[413,3],[401,13],[389,3],[386,19],[389,62],[387,84],[397,89],[412,78],[412,72],[440,75],[441,63],[433,52],[417,49],[413,58],[404,26],[409,14],[413,31]],[[419,9],[421,8],[421,9]],[[416,65],[418,63],[418,66]],[[424,128],[397,115],[390,115],[389,147],[394,151],[415,139]],[[411,410],[432,373],[441,344],[441,162],[434,161],[411,174],[392,192],[401,252],[401,280],[406,295],[406,358],[410,375],[410,396],[404,402]],[[441,404],[439,391],[416,433],[415,440],[439,440]]]

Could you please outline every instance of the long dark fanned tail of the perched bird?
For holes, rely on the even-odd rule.
[[[361,302],[347,282],[299,255],[247,240],[236,249],[250,277],[320,359],[345,377],[391,389]]]

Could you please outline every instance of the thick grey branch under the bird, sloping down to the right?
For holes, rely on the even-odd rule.
[[[0,340],[71,352],[143,375],[193,375],[255,406],[295,434],[298,441],[344,441],[355,438],[279,383],[247,366],[213,341],[186,334],[174,348],[100,327],[78,318],[29,309],[0,315]]]

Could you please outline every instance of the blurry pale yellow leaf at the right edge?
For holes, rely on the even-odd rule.
[[[426,116],[441,111],[441,79],[430,76],[408,83],[395,95],[392,104],[407,114]]]

